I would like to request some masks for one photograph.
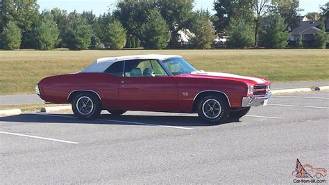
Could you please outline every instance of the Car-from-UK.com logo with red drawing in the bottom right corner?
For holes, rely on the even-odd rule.
[[[326,183],[327,170],[325,168],[313,168],[310,164],[301,164],[297,159],[296,168],[292,171],[294,183]]]

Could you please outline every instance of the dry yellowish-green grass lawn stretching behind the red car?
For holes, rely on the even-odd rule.
[[[267,77],[273,82],[329,80],[328,49],[0,51],[0,95],[34,93],[44,77],[78,72],[96,58],[178,54],[198,70]]]

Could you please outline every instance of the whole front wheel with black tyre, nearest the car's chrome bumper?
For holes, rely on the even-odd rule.
[[[221,124],[228,118],[230,108],[223,97],[208,95],[200,99],[198,103],[199,117],[210,124]]]

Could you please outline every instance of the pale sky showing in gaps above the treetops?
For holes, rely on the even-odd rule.
[[[300,6],[308,12],[319,12],[319,6],[323,5],[328,0],[300,0]],[[195,0],[195,9],[208,8],[212,10],[213,0]],[[93,10],[96,15],[105,13],[108,8],[114,9],[117,0],[37,0],[40,5],[40,10],[51,10],[55,7],[65,9],[67,12],[77,10],[82,13],[83,10]]]

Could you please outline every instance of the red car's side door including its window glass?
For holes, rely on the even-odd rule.
[[[119,81],[119,100],[127,110],[177,111],[176,79],[156,60],[125,61],[124,77]]]

